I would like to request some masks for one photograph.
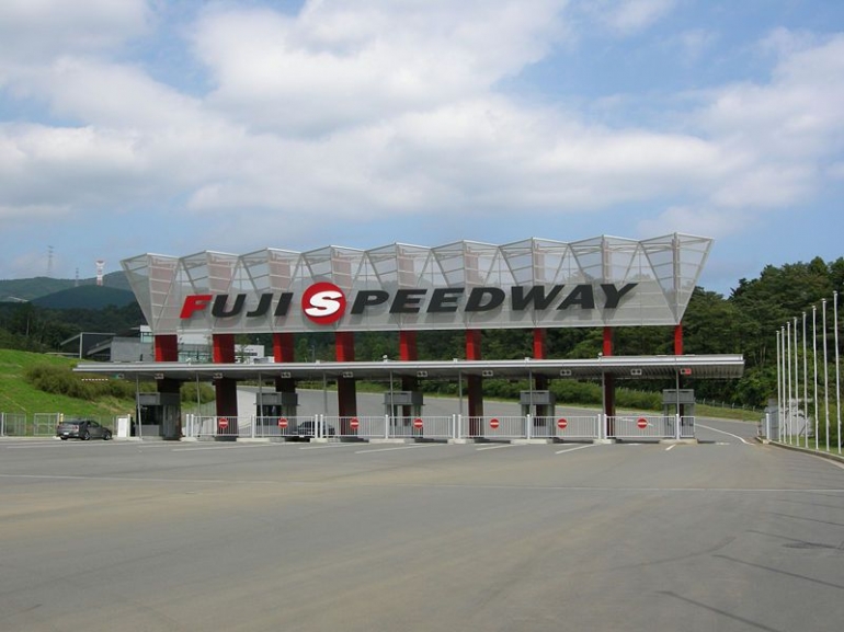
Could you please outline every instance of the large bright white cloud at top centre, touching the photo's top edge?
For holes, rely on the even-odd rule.
[[[210,102],[259,129],[323,134],[472,99],[539,60],[564,2],[311,2],[288,18],[212,10],[194,46]]]

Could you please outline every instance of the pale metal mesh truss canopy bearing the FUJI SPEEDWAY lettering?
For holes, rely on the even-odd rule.
[[[533,238],[144,254],[122,265],[153,334],[674,325],[711,243],[681,233]],[[338,288],[358,311],[330,323],[309,319],[303,297],[318,283]],[[484,301],[495,297],[490,308]],[[184,318],[186,300],[196,309]]]

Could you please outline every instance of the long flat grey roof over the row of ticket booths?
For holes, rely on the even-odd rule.
[[[293,378],[298,380],[383,381],[397,377],[422,379],[459,379],[464,376],[524,379],[546,376],[562,379],[668,379],[682,376],[699,379],[735,379],[744,371],[741,355],[680,356],[600,356],[591,359],[518,360],[381,360],[381,361],[317,361],[317,363],[231,363],[191,364],[156,363],[84,363],[73,369],[83,375],[119,377],[127,380],[174,379],[208,381],[232,379]]]

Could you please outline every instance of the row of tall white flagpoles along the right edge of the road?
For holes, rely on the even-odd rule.
[[[802,313],[784,324],[777,334],[777,416],[778,440],[816,450],[837,449],[841,441],[841,371],[839,361],[839,292],[832,296],[832,342],[834,356],[829,353],[826,299],[821,300],[820,329],[818,306],[811,317]],[[809,319],[811,318],[811,322]],[[799,326],[798,326],[799,325]],[[811,331],[809,331],[811,326]],[[820,341],[819,341],[820,337]],[[821,355],[818,355],[818,346]],[[811,346],[811,348],[810,348]],[[834,359],[832,367],[830,360]],[[820,360],[820,368],[819,368]],[[811,366],[810,366],[811,365]],[[831,375],[832,374],[832,375]],[[831,393],[832,390],[832,393]],[[831,394],[834,398],[831,398]],[[831,406],[834,410],[831,411]],[[831,445],[831,433],[835,444]],[[823,443],[821,443],[823,436]],[[774,437],[769,437],[774,438]]]

